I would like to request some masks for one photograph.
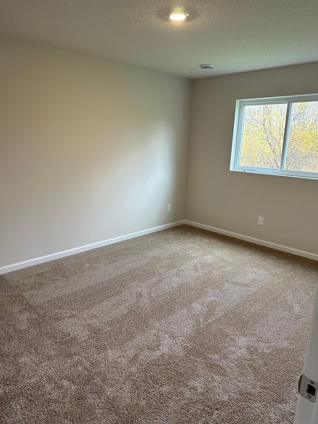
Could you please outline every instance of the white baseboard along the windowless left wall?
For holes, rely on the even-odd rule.
[[[159,227],[148,228],[147,230],[137,231],[136,233],[126,234],[113,239],[103,240],[102,242],[91,243],[89,245],[80,246],[66,251],[46,254],[45,256],[35,257],[34,259],[23,260],[22,262],[12,263],[0,267],[0,275],[6,272],[15,271],[17,269],[26,268],[27,266],[37,265],[38,263],[48,262],[50,260],[59,259],[61,257],[70,256],[81,252],[86,252],[92,249],[101,248],[103,246],[112,245],[113,243],[123,242],[124,240],[133,239],[135,237],[145,236],[146,234],[155,233],[157,231],[166,230],[167,228],[176,227],[184,224],[184,220],[171,222],[170,224],[159,225]]]

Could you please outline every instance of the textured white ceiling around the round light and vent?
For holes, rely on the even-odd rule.
[[[0,0],[0,32],[203,78],[318,61],[318,1]]]

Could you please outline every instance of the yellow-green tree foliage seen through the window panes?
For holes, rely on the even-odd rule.
[[[291,103],[285,170],[318,172],[318,101]],[[239,166],[279,170],[287,102],[245,105]]]

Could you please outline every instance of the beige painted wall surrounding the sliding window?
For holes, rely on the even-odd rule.
[[[236,100],[303,93],[318,63],[194,81],[187,219],[318,254],[318,180],[229,170]]]

